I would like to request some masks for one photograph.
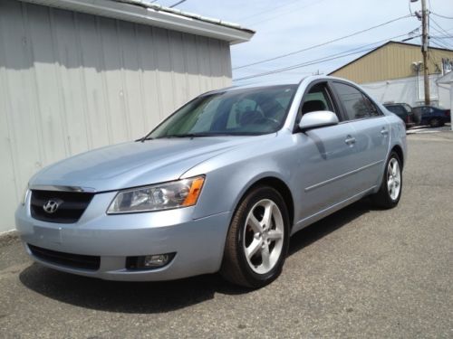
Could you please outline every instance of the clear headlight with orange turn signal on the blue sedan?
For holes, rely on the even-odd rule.
[[[169,210],[195,205],[204,176],[120,191],[107,214]]]

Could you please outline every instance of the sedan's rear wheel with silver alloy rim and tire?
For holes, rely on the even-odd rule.
[[[392,208],[400,202],[402,190],[401,160],[395,152],[391,152],[382,178],[378,193],[371,196],[371,200],[379,207]]]

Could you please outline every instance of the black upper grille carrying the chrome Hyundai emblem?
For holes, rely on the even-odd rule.
[[[30,210],[32,217],[40,221],[77,222],[92,201],[94,193],[32,190]],[[57,202],[55,212],[45,212],[47,202]]]

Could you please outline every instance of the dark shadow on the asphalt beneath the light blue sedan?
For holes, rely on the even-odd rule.
[[[356,202],[297,232],[291,239],[289,255],[369,211],[368,202]],[[34,292],[63,303],[131,314],[165,313],[202,303],[216,293],[240,295],[250,291],[229,284],[218,274],[165,282],[120,282],[75,276],[35,263],[25,268],[19,279]]]

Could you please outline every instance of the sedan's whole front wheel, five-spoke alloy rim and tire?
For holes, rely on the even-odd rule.
[[[263,287],[283,268],[289,217],[274,188],[257,186],[239,203],[231,221],[220,274],[244,287]]]

